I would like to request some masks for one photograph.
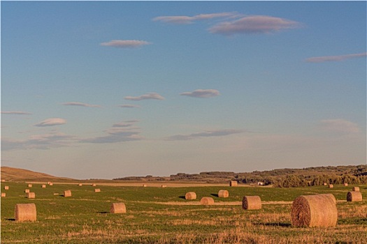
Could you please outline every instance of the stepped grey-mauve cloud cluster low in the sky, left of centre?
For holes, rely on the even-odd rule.
[[[138,121],[124,121],[115,123],[112,128],[104,131],[108,135],[81,139],[79,142],[107,144],[117,142],[134,142],[144,139],[144,137],[140,135],[140,128],[132,127],[137,122]]]

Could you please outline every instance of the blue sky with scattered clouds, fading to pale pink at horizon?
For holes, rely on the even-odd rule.
[[[1,165],[366,164],[366,1],[1,1]]]

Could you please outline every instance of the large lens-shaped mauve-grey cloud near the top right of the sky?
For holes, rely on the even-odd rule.
[[[208,31],[230,36],[233,34],[271,33],[282,29],[297,28],[298,26],[300,26],[298,22],[280,17],[252,15],[231,22],[220,22],[210,27]]]

